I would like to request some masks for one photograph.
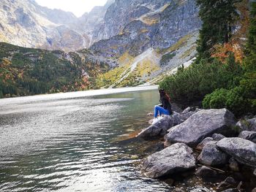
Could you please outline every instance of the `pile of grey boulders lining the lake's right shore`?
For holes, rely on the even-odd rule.
[[[256,117],[237,121],[226,109],[188,107],[164,116],[137,137],[165,139],[165,149],[143,160],[141,170],[146,177],[173,178],[193,172],[208,180],[225,169],[229,177],[223,178],[216,191],[256,191]]]

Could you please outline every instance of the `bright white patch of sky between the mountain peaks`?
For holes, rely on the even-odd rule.
[[[107,0],[36,0],[37,4],[50,9],[62,9],[80,17],[95,6],[104,5]]]

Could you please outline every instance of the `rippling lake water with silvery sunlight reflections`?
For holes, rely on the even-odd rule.
[[[129,139],[148,126],[156,88],[0,99],[0,191],[170,191],[140,172],[157,142]]]

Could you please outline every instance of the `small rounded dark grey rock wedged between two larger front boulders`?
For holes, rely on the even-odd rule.
[[[228,156],[226,153],[219,150],[216,144],[208,143],[203,147],[203,150],[197,157],[197,160],[200,161],[201,164],[207,166],[218,166],[227,164]]]

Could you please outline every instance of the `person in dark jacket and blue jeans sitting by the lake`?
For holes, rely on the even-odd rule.
[[[160,103],[154,107],[154,118],[161,115],[172,115],[172,106],[170,104],[170,96],[165,92],[164,89],[159,89]]]

